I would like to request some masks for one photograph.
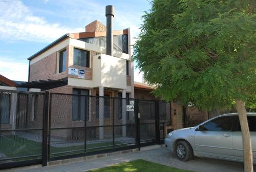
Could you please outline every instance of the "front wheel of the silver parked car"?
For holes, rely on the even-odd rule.
[[[193,151],[186,141],[179,141],[176,146],[176,155],[181,161],[188,161],[193,156]]]

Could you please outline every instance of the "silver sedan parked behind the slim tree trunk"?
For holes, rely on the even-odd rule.
[[[256,113],[246,115],[255,164]],[[164,144],[182,161],[198,156],[243,162],[243,142],[237,113],[220,115],[195,127],[170,132]]]

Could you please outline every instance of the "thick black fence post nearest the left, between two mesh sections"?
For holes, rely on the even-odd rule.
[[[44,97],[44,115],[43,115],[43,120],[42,120],[42,166],[47,166],[49,92],[45,92],[44,96],[45,96]]]

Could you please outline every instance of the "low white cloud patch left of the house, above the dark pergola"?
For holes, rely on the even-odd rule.
[[[11,80],[27,81],[28,63],[0,57],[0,74]]]

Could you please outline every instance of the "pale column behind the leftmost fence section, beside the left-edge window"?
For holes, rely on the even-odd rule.
[[[16,117],[17,117],[17,93],[12,93],[11,96],[11,112],[10,112],[10,124],[12,125],[12,130],[16,129]],[[13,135],[16,132],[12,132]]]

